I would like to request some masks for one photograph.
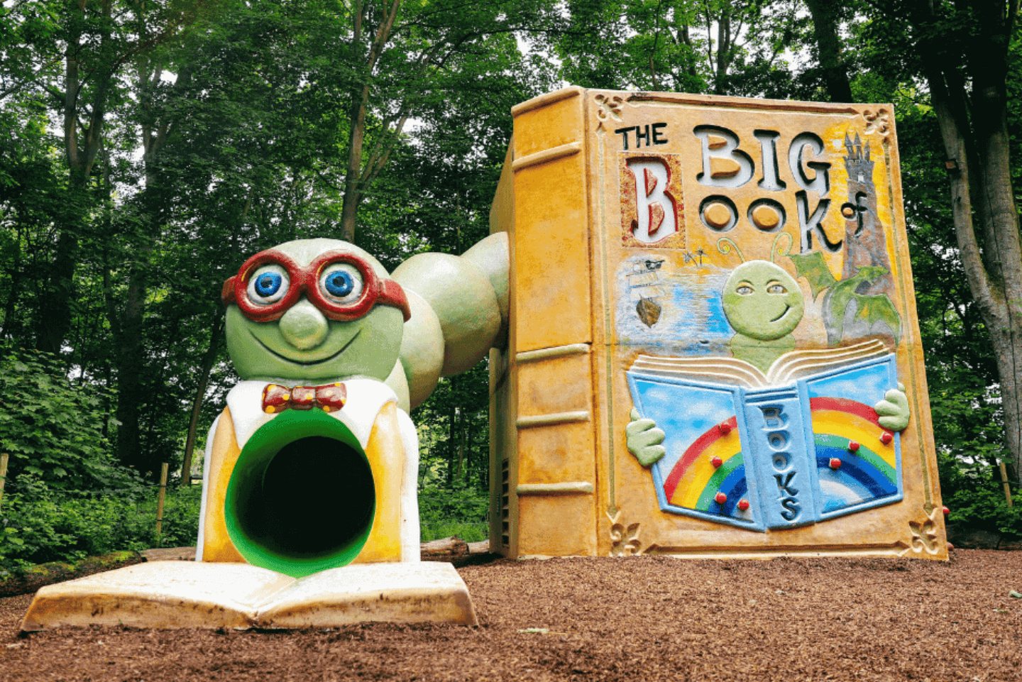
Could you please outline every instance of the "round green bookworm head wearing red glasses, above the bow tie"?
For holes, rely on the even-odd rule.
[[[384,380],[410,312],[401,286],[358,246],[288,241],[224,284],[227,349],[245,379]]]

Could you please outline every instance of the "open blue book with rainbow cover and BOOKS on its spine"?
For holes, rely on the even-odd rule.
[[[902,497],[898,435],[873,409],[897,385],[880,340],[793,351],[765,373],[736,358],[640,355],[628,380],[666,434],[652,465],[664,511],[765,531]]]

